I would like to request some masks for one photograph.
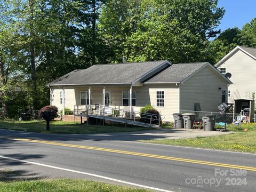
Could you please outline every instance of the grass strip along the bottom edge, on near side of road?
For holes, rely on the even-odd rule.
[[[77,180],[77,179],[44,179],[44,180],[32,180],[32,181],[13,181],[13,182],[0,182],[1,192],[45,192],[45,191],[55,191],[55,192],[146,192],[146,189],[136,189],[129,187],[122,187],[116,185],[109,185],[103,182],[95,182],[89,180]]]

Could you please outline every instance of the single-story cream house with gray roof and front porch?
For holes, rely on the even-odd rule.
[[[228,84],[229,79],[208,62],[149,61],[74,70],[49,87],[51,105],[60,109],[97,103],[139,111],[151,105],[165,117],[163,121],[170,122],[181,109],[195,110],[195,103],[204,111],[218,111],[227,98],[221,91],[227,91]]]

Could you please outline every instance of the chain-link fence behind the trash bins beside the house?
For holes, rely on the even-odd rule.
[[[196,119],[202,119],[205,115],[215,115],[216,123],[224,123],[225,122],[225,114],[220,114],[219,112],[211,112],[211,111],[191,111],[191,110],[181,110],[181,113],[191,113],[196,114]],[[227,124],[233,123],[237,121],[237,119],[241,119],[240,114],[226,113],[226,122]]]

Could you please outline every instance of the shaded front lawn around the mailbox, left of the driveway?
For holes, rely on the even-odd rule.
[[[0,129],[29,131],[38,133],[107,133],[107,132],[127,132],[149,130],[146,127],[127,126],[102,126],[74,124],[74,122],[52,121],[50,122],[50,132],[45,130],[44,121],[0,121]],[[151,129],[152,130],[152,129]]]

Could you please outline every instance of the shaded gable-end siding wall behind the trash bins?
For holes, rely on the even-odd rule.
[[[227,90],[227,83],[214,69],[206,66],[181,84],[181,109],[195,110],[195,103],[200,103],[203,111],[218,111],[217,106],[221,103],[219,87]]]

